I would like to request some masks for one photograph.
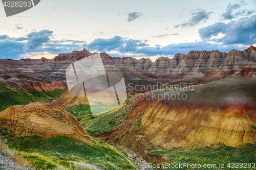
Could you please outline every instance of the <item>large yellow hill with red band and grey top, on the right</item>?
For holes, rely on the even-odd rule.
[[[254,143],[255,87],[256,79],[231,78],[183,89],[179,93],[180,100],[178,93],[168,90],[141,94],[131,102],[137,105],[136,109],[127,113],[127,121],[134,123],[115,130],[115,136],[119,136],[115,142],[134,148],[145,135],[148,142],[164,148],[186,148],[195,144],[203,147],[220,142],[236,147]],[[152,94],[160,97],[152,99]],[[141,128],[138,129],[140,118]],[[143,135],[131,138],[129,132],[133,133],[134,129]]]

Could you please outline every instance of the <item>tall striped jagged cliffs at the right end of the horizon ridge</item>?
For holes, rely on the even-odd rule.
[[[227,54],[216,51],[190,51],[187,55],[176,54],[165,72],[170,74],[186,74],[189,71],[207,72],[209,70],[241,69],[256,67],[256,47],[252,45],[244,51],[231,50]]]

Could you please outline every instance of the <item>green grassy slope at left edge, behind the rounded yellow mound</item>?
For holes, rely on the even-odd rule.
[[[14,105],[27,105],[33,102],[48,102],[58,99],[65,90],[56,89],[54,91],[23,90],[8,87],[0,82],[0,112]]]

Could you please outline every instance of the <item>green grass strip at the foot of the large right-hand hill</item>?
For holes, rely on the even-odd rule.
[[[166,162],[171,164],[190,163],[190,164],[216,164],[219,169],[219,163],[225,163],[228,169],[228,163],[256,163],[256,143],[246,143],[237,148],[228,145],[220,145],[219,148],[199,148],[190,151],[182,151],[182,149],[171,149],[164,151],[153,151],[153,155],[161,155]],[[154,162],[153,162],[154,163]],[[256,166],[256,164],[255,164]],[[181,168],[182,169],[182,168]],[[184,169],[187,169],[184,168]],[[214,169],[214,168],[207,168]],[[216,168],[215,168],[216,169]],[[234,168],[230,168],[234,169]],[[243,169],[243,168],[239,168]],[[244,168],[250,169],[250,168]],[[255,168],[251,168],[255,169]]]

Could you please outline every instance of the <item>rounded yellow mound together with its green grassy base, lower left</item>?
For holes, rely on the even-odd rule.
[[[52,104],[9,107],[0,113],[0,124],[11,152],[16,149],[36,169],[139,169],[126,153],[92,138],[74,116]]]

